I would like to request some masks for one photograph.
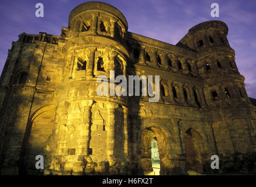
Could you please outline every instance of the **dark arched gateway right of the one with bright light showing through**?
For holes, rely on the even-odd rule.
[[[186,130],[184,134],[185,151],[186,151],[186,168],[189,175],[203,173],[203,161],[201,153],[203,151],[202,137],[193,129]]]

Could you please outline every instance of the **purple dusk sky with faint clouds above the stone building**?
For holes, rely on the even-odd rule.
[[[44,5],[44,18],[35,16],[35,5]],[[46,32],[60,35],[68,26],[68,16],[82,0],[1,0],[0,72],[8,49],[18,34]],[[207,20],[222,20],[229,27],[230,46],[245,77],[248,96],[256,98],[256,1],[206,0],[102,0],[119,9],[127,19],[130,32],[176,44],[188,30]],[[212,18],[210,5],[220,6],[220,17]]]

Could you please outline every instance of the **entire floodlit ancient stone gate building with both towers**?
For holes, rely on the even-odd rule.
[[[153,138],[161,175],[255,172],[256,107],[227,32],[203,22],[172,45],[128,32],[116,8],[87,2],[60,36],[20,34],[1,75],[1,174],[147,174]],[[160,75],[160,100],[98,96],[96,78],[111,70]],[[214,154],[219,170],[210,169]]]

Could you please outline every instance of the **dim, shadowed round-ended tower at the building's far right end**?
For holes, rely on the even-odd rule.
[[[213,121],[218,154],[223,162],[233,162],[247,160],[249,153],[256,151],[256,144],[253,134],[248,133],[254,126],[253,106],[227,33],[228,27],[221,21],[203,22],[192,27],[178,45],[185,44],[198,52],[198,71],[204,79],[203,92]]]

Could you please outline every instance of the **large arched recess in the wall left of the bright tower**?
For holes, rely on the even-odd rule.
[[[43,174],[35,168],[35,158],[36,155],[46,158],[46,141],[52,133],[55,109],[54,105],[43,106],[29,117],[19,161],[20,174]]]

